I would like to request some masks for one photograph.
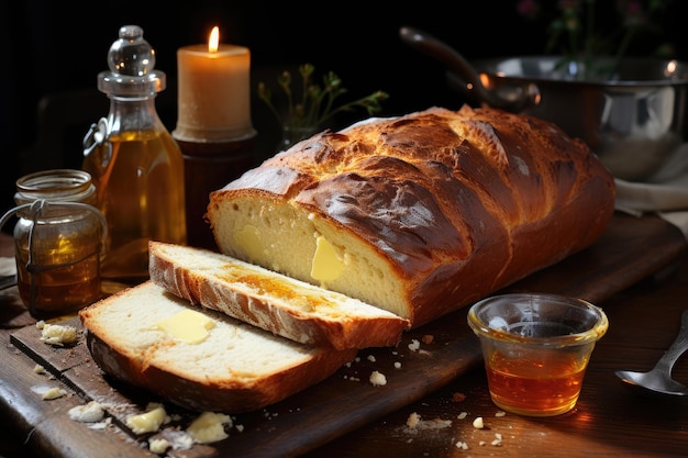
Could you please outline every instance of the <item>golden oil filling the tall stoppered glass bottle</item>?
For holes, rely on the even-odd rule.
[[[84,160],[108,221],[101,277],[124,281],[148,276],[148,241],[186,244],[184,157],[167,131],[123,132]]]

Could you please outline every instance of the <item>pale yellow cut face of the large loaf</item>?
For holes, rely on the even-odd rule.
[[[258,197],[218,199],[212,205],[222,253],[409,317],[408,284],[386,275],[395,266],[347,228]]]

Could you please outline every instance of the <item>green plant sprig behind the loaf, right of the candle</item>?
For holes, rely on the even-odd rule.
[[[281,88],[287,102],[284,113],[273,103],[273,93],[267,86],[263,81],[258,83],[258,97],[267,104],[281,127],[321,129],[335,114],[353,111],[356,108],[364,108],[371,116],[381,111],[381,102],[389,98],[386,92],[376,91],[360,99],[336,105],[335,102],[340,97],[347,92],[342,86],[342,79],[333,71],[329,71],[322,77],[322,86],[320,86],[312,81],[314,72],[315,67],[311,64],[299,66],[301,98],[298,101],[296,101],[295,92],[291,89],[291,74],[285,70],[277,77],[277,85]]]

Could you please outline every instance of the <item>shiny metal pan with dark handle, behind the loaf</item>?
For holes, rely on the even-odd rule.
[[[417,29],[401,40],[447,67],[447,85],[470,100],[529,114],[582,139],[615,178],[646,181],[681,154],[688,142],[688,63],[646,57],[590,65],[615,72],[586,79],[585,66],[563,56],[515,56],[470,64],[448,45]],[[575,64],[575,65],[574,65]],[[651,181],[652,182],[652,181]]]

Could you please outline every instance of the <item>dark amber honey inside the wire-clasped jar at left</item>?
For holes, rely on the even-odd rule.
[[[27,239],[18,241],[16,278],[20,297],[34,317],[73,312],[101,298],[99,232],[57,239],[34,237],[33,247],[35,257],[27,267]]]

